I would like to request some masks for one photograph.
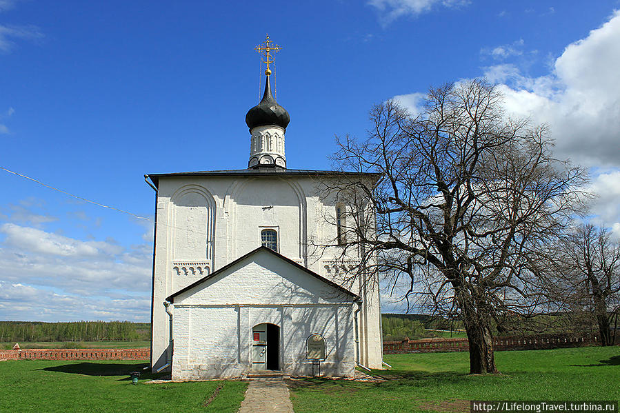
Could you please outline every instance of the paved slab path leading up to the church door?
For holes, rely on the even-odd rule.
[[[239,413],[293,413],[288,387],[281,380],[251,381]]]

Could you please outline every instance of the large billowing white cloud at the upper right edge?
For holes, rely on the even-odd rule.
[[[486,68],[503,82],[508,112],[548,123],[556,154],[589,166],[620,166],[620,11],[576,41],[550,74],[526,77],[516,66]]]

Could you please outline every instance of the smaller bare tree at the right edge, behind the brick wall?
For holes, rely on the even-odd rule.
[[[578,225],[559,243],[554,261],[561,296],[573,308],[586,310],[596,323],[601,345],[614,345],[620,305],[620,243],[606,228]]]

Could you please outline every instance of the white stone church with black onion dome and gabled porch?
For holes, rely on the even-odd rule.
[[[381,368],[378,283],[341,286],[338,274],[359,256],[339,260],[346,206],[324,189],[377,175],[288,169],[290,117],[266,75],[246,115],[247,169],[146,176],[157,190],[151,367],[173,380],[310,375],[310,334],[324,338],[321,374]],[[324,240],[333,246],[314,248]]]

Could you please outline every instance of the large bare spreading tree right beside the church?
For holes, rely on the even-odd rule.
[[[370,120],[367,139],[339,139],[334,155],[341,170],[379,174],[330,188],[341,200],[356,194],[342,256],[357,249],[358,275],[404,281],[406,299],[458,316],[470,372],[497,372],[493,326],[546,305],[532,263],[581,208],[586,172],[552,157],[546,128],[508,119],[484,81],[430,89],[417,116],[375,105]]]

